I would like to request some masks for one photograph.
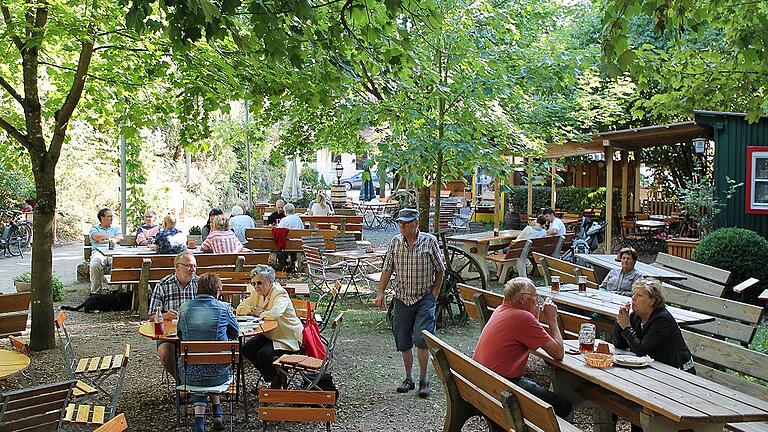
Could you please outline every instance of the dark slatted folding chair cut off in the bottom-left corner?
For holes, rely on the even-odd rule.
[[[75,380],[0,394],[0,432],[57,431]]]

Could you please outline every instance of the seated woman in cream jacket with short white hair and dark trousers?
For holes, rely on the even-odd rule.
[[[276,320],[277,328],[254,336],[243,345],[243,355],[261,372],[272,388],[285,384],[272,362],[283,354],[297,352],[301,347],[304,326],[291,303],[288,292],[275,283],[275,270],[258,264],[251,270],[251,283],[255,289],[250,297],[237,307],[238,315],[253,315]]]

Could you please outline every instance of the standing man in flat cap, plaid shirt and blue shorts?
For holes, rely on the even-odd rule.
[[[403,355],[405,380],[397,388],[406,393],[415,388],[413,382],[413,346],[419,357],[419,397],[429,397],[429,351],[422,330],[435,331],[435,306],[443,284],[445,262],[440,245],[432,234],[419,231],[419,212],[403,209],[397,222],[400,235],[392,239],[382,266],[376,305],[384,309],[384,289],[395,274],[395,345]]]

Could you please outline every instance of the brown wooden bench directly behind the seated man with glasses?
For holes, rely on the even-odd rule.
[[[173,274],[176,255],[116,255],[112,258],[112,272],[107,276],[110,284],[137,285],[134,290],[134,307],[140,316],[146,316],[149,308],[149,285]],[[224,271],[250,271],[257,264],[268,264],[269,254],[236,252],[231,254],[195,254],[197,274]]]

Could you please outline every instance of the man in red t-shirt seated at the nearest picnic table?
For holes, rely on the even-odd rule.
[[[539,313],[544,315],[549,329],[544,329],[539,322]],[[559,417],[567,417],[573,408],[568,399],[523,377],[528,354],[539,348],[555,360],[563,359],[565,350],[557,325],[557,306],[548,303],[539,309],[533,282],[528,278],[514,278],[504,287],[504,302],[493,311],[483,328],[472,358],[552,405]]]

